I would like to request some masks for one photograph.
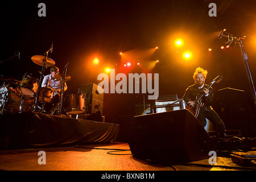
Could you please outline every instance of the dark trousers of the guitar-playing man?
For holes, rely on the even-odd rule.
[[[220,138],[224,138],[225,125],[224,122],[221,121],[221,118],[218,117],[218,114],[213,109],[206,111],[203,108],[201,108],[199,110],[199,115],[197,116],[197,119],[204,127],[207,124],[205,118],[209,119],[209,121],[211,121],[213,125],[217,126],[217,129],[220,133]]]

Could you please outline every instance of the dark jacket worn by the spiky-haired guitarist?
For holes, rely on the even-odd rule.
[[[203,88],[207,88],[208,85],[204,84]],[[199,96],[203,92],[203,88],[198,88],[196,84],[188,86],[188,88],[185,90],[185,94],[183,96],[183,100],[188,105],[189,101],[195,101],[197,96]],[[212,110],[212,101],[213,101],[213,89],[212,87],[209,88],[209,93],[207,96],[203,96],[201,98],[201,102],[204,103],[202,109],[204,110]]]

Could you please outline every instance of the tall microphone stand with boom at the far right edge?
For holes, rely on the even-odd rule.
[[[222,35],[222,36],[228,37],[229,41],[227,43],[229,43],[229,45],[233,42],[233,40],[235,40],[235,47],[236,47],[236,43],[239,43],[239,45],[240,45],[241,52],[242,52],[242,57],[243,57],[243,64],[245,64],[246,75],[247,75],[247,78],[248,78],[249,84],[250,84],[251,96],[253,96],[254,112],[255,112],[255,109],[256,109],[256,92],[255,92],[255,88],[254,88],[254,84],[253,84],[253,78],[251,77],[250,67],[249,67],[249,64],[248,64],[248,57],[247,57],[247,54],[245,53],[245,49],[243,48],[243,43],[242,43],[242,39],[245,39],[245,36],[243,36],[243,37],[233,36],[232,34],[229,34],[228,32],[226,32],[225,29],[222,31],[222,34],[224,34],[224,33],[228,34],[228,35]]]

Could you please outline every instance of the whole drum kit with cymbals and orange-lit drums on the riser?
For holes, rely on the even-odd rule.
[[[22,80],[0,75],[0,80],[3,85],[0,86],[0,113],[14,114],[29,111],[39,113],[47,113],[44,110],[44,104],[51,103],[53,94],[56,89],[49,87],[41,87],[45,67],[52,67],[55,61],[47,56],[35,55],[31,60],[38,65],[41,65],[42,72],[40,80],[32,76],[31,73],[25,73]],[[68,65],[68,64],[67,64]],[[60,91],[60,102],[51,114],[68,116],[69,114],[85,113],[85,94],[69,94],[65,97],[66,108],[63,108],[63,93],[65,82],[71,80],[71,76],[67,75],[67,65],[63,74],[59,73],[55,76],[57,80],[61,80],[62,86]],[[85,113],[86,115],[86,113]]]

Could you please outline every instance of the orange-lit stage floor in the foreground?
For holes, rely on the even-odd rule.
[[[38,155],[39,151],[46,152],[46,164],[38,163],[41,156]],[[254,171],[256,167],[242,167],[233,163],[229,156],[217,156],[217,163],[213,166],[209,166],[208,159],[164,166],[134,158],[128,143],[110,142],[86,146],[2,150],[0,170],[100,171],[96,175],[101,175],[105,171]]]

